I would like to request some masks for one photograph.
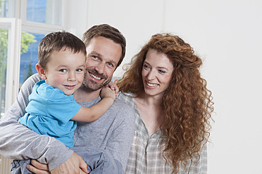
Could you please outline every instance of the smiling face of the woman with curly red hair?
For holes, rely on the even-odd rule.
[[[150,48],[146,53],[142,68],[142,80],[146,95],[163,97],[172,78],[173,69],[173,64],[166,54],[158,53]]]

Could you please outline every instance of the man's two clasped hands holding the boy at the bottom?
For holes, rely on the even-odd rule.
[[[54,170],[51,170],[51,172],[49,172],[49,168],[46,164],[39,163],[36,160],[32,160],[31,163],[32,166],[27,165],[28,166],[27,169],[30,170],[32,173],[37,173],[37,174],[89,173],[87,170],[87,163],[85,163],[85,161],[82,159],[81,156],[75,154],[75,152],[73,153],[72,156],[70,156],[70,158],[66,162],[62,163],[57,168],[54,168]]]

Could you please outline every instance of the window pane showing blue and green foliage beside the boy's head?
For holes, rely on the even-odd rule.
[[[20,86],[32,74],[37,73],[35,65],[38,62],[38,45],[44,38],[44,34],[21,33],[21,57],[20,57]]]

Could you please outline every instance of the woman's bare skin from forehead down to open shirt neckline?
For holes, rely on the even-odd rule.
[[[163,95],[168,88],[173,73],[173,64],[163,53],[149,49],[142,67],[143,95],[135,98],[135,103],[149,135],[160,129],[163,122]]]

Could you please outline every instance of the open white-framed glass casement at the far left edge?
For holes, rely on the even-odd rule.
[[[0,18],[0,113],[11,107],[18,95],[21,22]]]

